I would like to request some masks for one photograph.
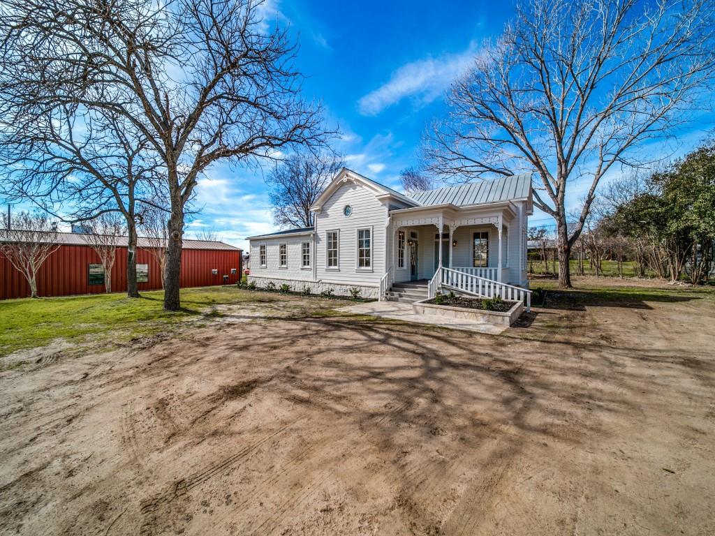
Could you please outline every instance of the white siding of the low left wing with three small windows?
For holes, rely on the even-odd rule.
[[[301,244],[311,242],[310,234],[297,237],[272,237],[265,239],[253,239],[250,241],[251,249],[251,275],[256,277],[272,277],[275,279],[296,279],[299,281],[312,280],[312,265],[310,268],[302,268]],[[266,245],[266,266],[260,266],[260,244]],[[279,267],[278,247],[286,244],[287,267]],[[315,262],[315,254],[311,255],[311,261]]]

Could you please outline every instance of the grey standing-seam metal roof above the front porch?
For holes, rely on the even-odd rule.
[[[524,199],[528,197],[530,188],[531,174],[527,173],[418,192],[412,197],[423,207],[436,204],[453,204],[457,207],[465,207],[473,204]]]

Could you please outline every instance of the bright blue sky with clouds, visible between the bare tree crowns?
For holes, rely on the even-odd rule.
[[[510,3],[494,1],[267,0],[261,9],[267,27],[287,27],[299,42],[305,97],[322,101],[328,125],[339,126],[333,145],[347,167],[391,187],[399,187],[402,169],[418,164],[420,135],[444,113],[450,81],[511,16]],[[684,154],[712,119],[705,114],[676,141],[651,142],[645,150]],[[576,206],[586,189],[572,184],[567,205]],[[197,207],[187,237],[211,229],[245,248],[245,237],[275,230],[260,169],[210,168],[197,187]],[[530,220],[551,222],[538,211]]]

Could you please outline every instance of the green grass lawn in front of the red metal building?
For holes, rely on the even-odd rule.
[[[182,289],[182,310],[167,312],[162,307],[163,297],[163,291],[154,291],[143,292],[139,299],[117,293],[1,301],[0,356],[44,346],[58,337],[80,342],[92,336],[104,339],[112,332],[115,342],[128,341],[165,332],[187,319],[210,321],[215,316],[211,307],[218,304],[280,299],[236,287]]]

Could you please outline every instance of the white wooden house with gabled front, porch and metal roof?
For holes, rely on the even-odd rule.
[[[411,197],[343,168],[312,207],[314,227],[249,237],[251,274],[312,294],[415,301],[440,287],[523,299],[528,174]]]

